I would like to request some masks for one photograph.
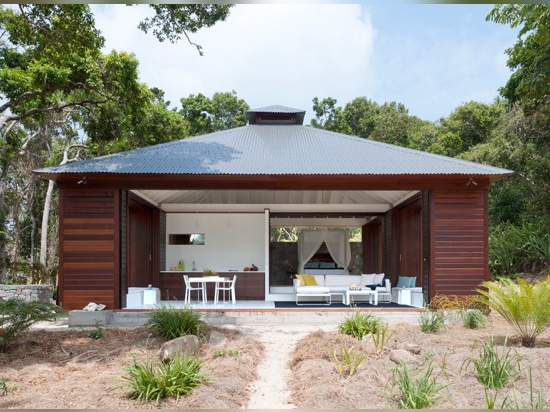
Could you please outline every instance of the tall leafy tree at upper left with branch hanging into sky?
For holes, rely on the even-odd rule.
[[[163,40],[164,31],[170,41],[177,41],[178,35],[188,37],[200,27],[224,20],[231,6],[151,7],[157,14],[166,11],[169,18],[143,22],[141,28],[158,28],[155,35],[159,40]],[[181,138],[188,131],[177,113],[154,101],[153,93],[138,83],[134,56],[101,54],[104,38],[95,28],[87,5],[0,6],[0,32],[1,278],[10,230],[5,210],[5,197],[11,187],[7,179],[21,156],[48,152],[31,144],[25,146],[25,142],[38,141],[30,139],[36,130],[41,130],[39,134],[46,140],[56,136],[49,119],[68,112],[69,117],[78,114],[81,130],[95,144],[95,153],[153,144],[159,138]],[[70,142],[67,145],[72,147]]]

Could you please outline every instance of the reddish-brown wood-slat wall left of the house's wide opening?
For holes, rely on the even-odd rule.
[[[116,190],[60,190],[59,300],[119,307],[119,206]]]

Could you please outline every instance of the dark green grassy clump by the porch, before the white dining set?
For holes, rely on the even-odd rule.
[[[145,325],[168,340],[185,335],[201,337],[208,330],[200,312],[190,308],[176,309],[172,305],[153,309]]]

